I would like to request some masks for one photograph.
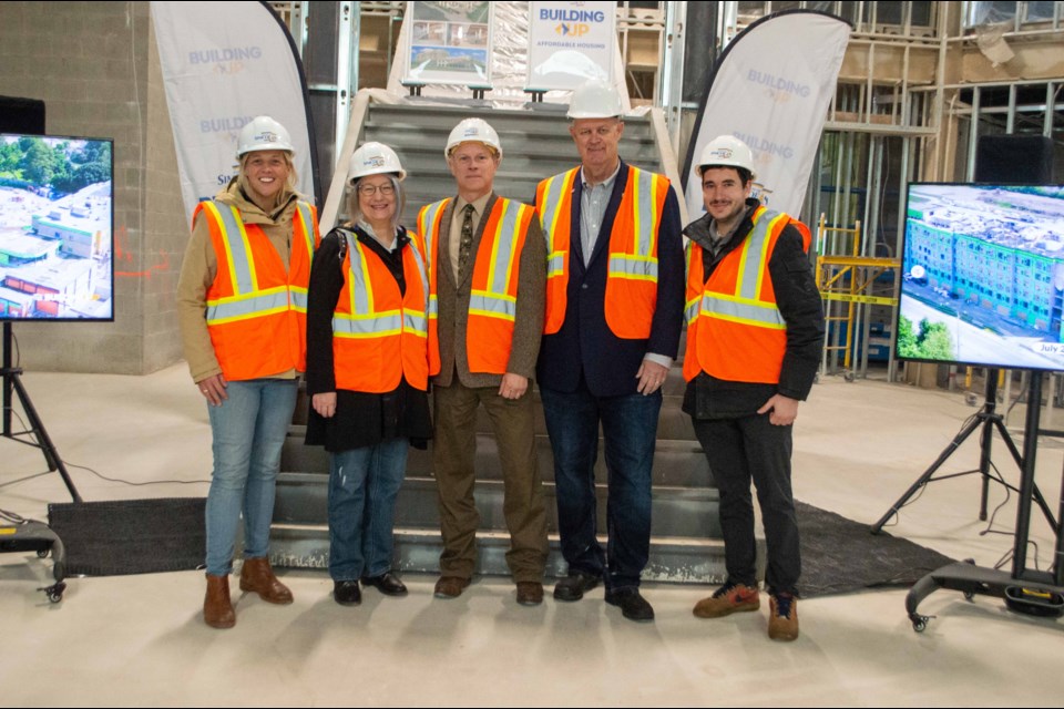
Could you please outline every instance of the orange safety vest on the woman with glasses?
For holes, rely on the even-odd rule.
[[[403,377],[415,389],[429,386],[429,279],[415,244],[402,249],[406,294],[372,249],[340,229],[347,240],[344,287],[332,314],[332,361],[337,389],[393,391]]]

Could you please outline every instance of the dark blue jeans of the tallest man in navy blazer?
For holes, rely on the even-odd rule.
[[[554,453],[557,528],[570,573],[604,576],[607,590],[640,585],[651,553],[651,474],[662,393],[595,397],[540,389]],[[608,472],[605,553],[595,536],[598,423]]]

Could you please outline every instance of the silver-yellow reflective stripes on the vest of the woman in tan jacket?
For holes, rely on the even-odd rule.
[[[244,228],[239,210],[233,205],[217,202],[202,203],[204,209],[222,226],[225,260],[229,269],[229,282],[234,294],[207,301],[207,325],[222,325],[235,320],[284,312],[289,309],[306,312],[307,289],[298,286],[277,286],[266,290],[258,288],[258,274],[252,257],[252,244]],[[299,202],[296,215],[300,219],[307,253],[314,255],[314,217],[309,205]],[[289,295],[290,294],[290,295]]]

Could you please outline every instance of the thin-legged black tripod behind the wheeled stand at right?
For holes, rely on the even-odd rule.
[[[1041,397],[1041,388],[1040,388]],[[1029,401],[1031,401],[1029,399]],[[1041,399],[1036,400],[1041,401]],[[1031,408],[1030,405],[1027,407]],[[1035,407],[1037,409],[1037,407]],[[879,521],[871,526],[872,534],[879,534],[883,530],[883,525],[890,522],[891,517],[897,515],[899,511],[906,506],[910,499],[921,487],[928,483],[938,482],[941,480],[949,480],[951,477],[960,477],[962,475],[971,475],[979,473],[982,479],[982,496],[980,497],[979,503],[979,520],[981,522],[986,521],[986,499],[990,493],[990,481],[995,481],[1001,483],[1009,490],[1013,492],[1021,492],[1019,487],[1010,485],[1007,482],[1001,477],[995,477],[990,474],[991,467],[991,446],[994,440],[994,431],[998,431],[998,434],[1001,435],[1001,439],[1005,442],[1005,445],[1009,448],[1009,452],[1012,453],[1012,459],[1016,462],[1016,465],[1023,471],[1023,456],[1020,455],[1020,451],[1016,449],[1016,444],[1013,442],[1012,436],[1009,434],[1009,429],[1005,428],[1004,418],[998,413],[998,370],[990,369],[986,371],[986,398],[983,402],[983,408],[972,417],[971,421],[961,429],[961,431],[953,438],[953,441],[942,451],[939,458],[931,464],[931,466],[923,472],[920,477],[917,479],[914,483],[906,491],[906,493],[898,499],[898,501],[890,506],[890,510],[883,514]],[[975,470],[965,470],[959,473],[950,473],[948,475],[940,475],[934,477],[934,473],[945,463],[947,460],[961,446],[961,444],[968,440],[972,433],[975,431],[980,432],[980,455],[979,455],[979,467]],[[1032,481],[1033,482],[1033,481]],[[1050,510],[1048,504],[1045,502],[1045,497],[1042,496],[1042,491],[1039,490],[1037,485],[1033,487],[1033,496],[1035,502],[1039,503],[1039,507],[1042,508],[1042,514],[1045,515],[1045,518],[1048,521],[1050,526],[1055,527],[1056,523],[1053,521],[1053,512]]]

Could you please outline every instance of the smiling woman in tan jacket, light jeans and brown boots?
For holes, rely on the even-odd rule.
[[[269,525],[305,369],[306,288],[318,242],[315,207],[295,189],[285,127],[254,119],[241,131],[236,156],[237,176],[196,207],[177,284],[185,359],[213,436],[203,616],[215,628],[236,623],[228,576],[242,513],[241,590],[291,603],[269,566]]]

